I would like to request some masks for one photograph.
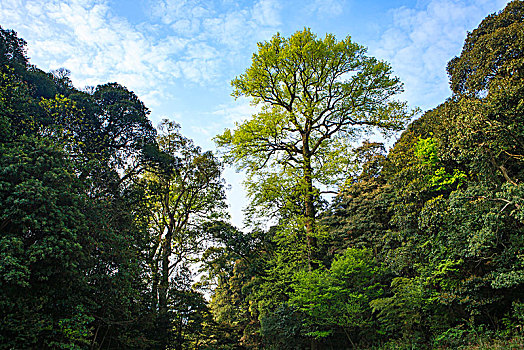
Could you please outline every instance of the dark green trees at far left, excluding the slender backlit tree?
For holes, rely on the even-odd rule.
[[[116,84],[95,101],[67,71],[29,65],[16,33],[0,37],[1,347],[147,347],[128,181],[154,141],[147,110]]]

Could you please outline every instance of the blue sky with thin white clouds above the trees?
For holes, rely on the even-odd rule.
[[[77,88],[118,82],[169,118],[204,150],[254,112],[231,97],[231,80],[250,65],[257,42],[309,27],[348,35],[389,62],[402,99],[423,111],[450,96],[447,62],[468,31],[507,0],[0,0],[0,25],[27,41],[30,62],[66,68]],[[232,222],[247,204],[242,174],[224,177]]]

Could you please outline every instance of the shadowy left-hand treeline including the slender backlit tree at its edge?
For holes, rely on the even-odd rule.
[[[191,266],[222,166],[116,83],[78,90],[0,29],[0,348],[198,344]]]

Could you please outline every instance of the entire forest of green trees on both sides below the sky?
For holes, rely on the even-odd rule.
[[[0,349],[524,348],[524,2],[468,33],[425,112],[349,36],[275,34],[217,154],[118,83],[32,65],[14,30]]]

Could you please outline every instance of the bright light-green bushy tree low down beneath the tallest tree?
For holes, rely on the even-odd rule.
[[[337,330],[350,344],[370,340],[374,322],[369,303],[383,293],[384,274],[370,250],[348,248],[327,270],[297,273],[290,302],[308,316],[306,324],[320,326],[310,336],[323,338]]]

